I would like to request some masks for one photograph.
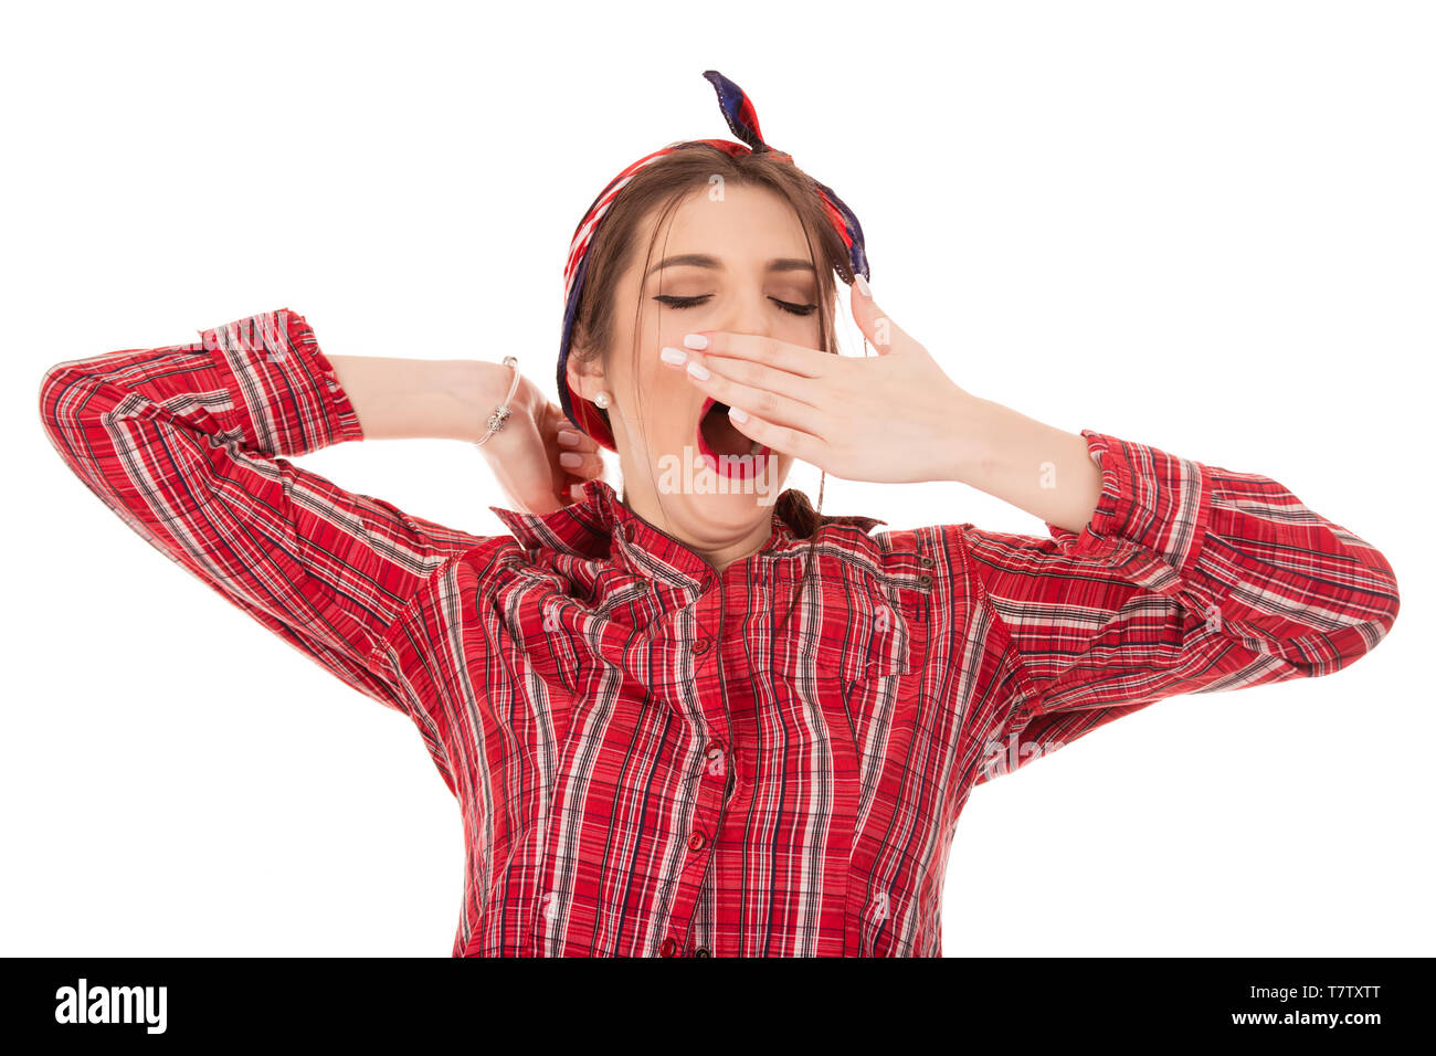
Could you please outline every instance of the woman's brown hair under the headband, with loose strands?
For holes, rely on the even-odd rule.
[[[665,221],[689,194],[708,187],[715,175],[721,177],[725,184],[768,188],[784,198],[793,207],[794,213],[797,213],[804,236],[807,237],[808,253],[817,269],[820,348],[834,355],[837,353],[837,339],[833,325],[833,303],[836,299],[833,274],[836,272],[843,282],[852,283],[853,269],[847,246],[833,228],[811,178],[791,161],[780,159],[770,152],[732,157],[715,147],[699,144],[665,154],[639,170],[613,200],[587,251],[587,272],[574,313],[570,356],[577,358],[579,362],[592,362],[592,359],[607,355],[613,339],[613,313],[617,310],[615,290],[633,260],[638,234],[645,217],[656,210],[653,237],[649,240],[648,256],[643,261],[643,270],[646,272],[649,263],[653,260],[653,246],[658,241],[658,233],[663,230]],[[814,241],[817,243],[816,246]],[[642,312],[643,302],[639,299],[633,306],[635,342]],[[635,343],[635,362],[638,355],[639,351]],[[603,415],[603,422],[609,425],[609,431],[612,432],[609,412],[599,408],[599,414]],[[819,529],[824,523],[821,510],[823,486],[826,483],[827,473],[824,471],[819,478],[816,511],[806,501],[797,504],[798,520],[801,522],[797,534],[807,534],[810,537],[804,580],[811,573]],[[798,590],[788,605],[783,622],[787,622],[794,605],[797,605],[803,593],[803,582],[798,583]]]

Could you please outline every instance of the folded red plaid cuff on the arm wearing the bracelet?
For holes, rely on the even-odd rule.
[[[359,415],[304,316],[287,307],[201,330],[246,443],[302,455],[363,440]]]

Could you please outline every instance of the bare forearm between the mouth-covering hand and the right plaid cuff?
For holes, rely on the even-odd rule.
[[[966,397],[954,421],[961,430],[952,448],[956,480],[1070,532],[1091,520],[1101,470],[1081,434],[978,397]]]

